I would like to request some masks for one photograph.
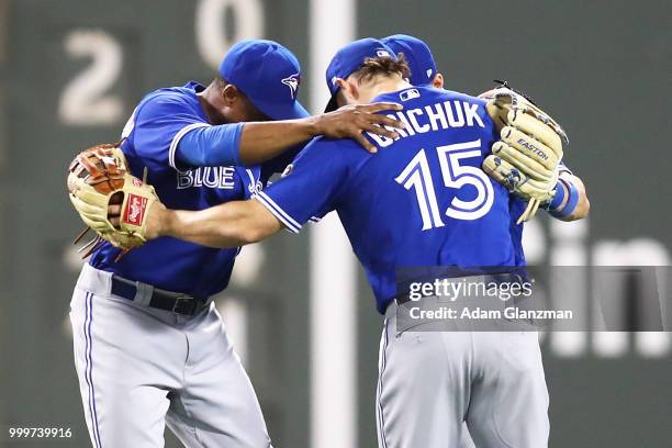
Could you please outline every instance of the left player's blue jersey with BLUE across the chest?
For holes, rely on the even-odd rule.
[[[176,164],[180,138],[190,130],[210,126],[195,82],[159,89],[146,96],[124,128],[122,145],[131,172],[156,189],[169,209],[202,210],[244,200],[261,189],[261,167],[192,167]],[[156,288],[206,298],[226,288],[239,249],[215,249],[163,237],[114,261],[119,249],[103,245],[90,265]]]

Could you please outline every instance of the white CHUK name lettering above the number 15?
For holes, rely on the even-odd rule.
[[[399,138],[452,127],[477,125],[485,127],[485,124],[478,113],[479,105],[480,104],[469,103],[467,101],[453,100],[428,104],[422,109],[403,110],[394,114],[388,114],[388,116],[403,122],[406,127],[403,130],[393,130],[389,126],[385,127],[390,131],[396,131],[400,135]],[[392,138],[382,137],[380,135],[367,134],[369,134],[381,148],[390,146],[395,142]]]

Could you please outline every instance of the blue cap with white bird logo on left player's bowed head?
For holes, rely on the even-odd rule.
[[[299,59],[277,42],[238,42],[222,60],[220,75],[272,120],[310,116],[296,101],[301,83]]]

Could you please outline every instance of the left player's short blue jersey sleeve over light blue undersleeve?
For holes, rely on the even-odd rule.
[[[149,168],[178,169],[176,150],[180,139],[188,132],[210,124],[193,111],[186,98],[159,93],[138,107],[133,126],[133,147]]]

